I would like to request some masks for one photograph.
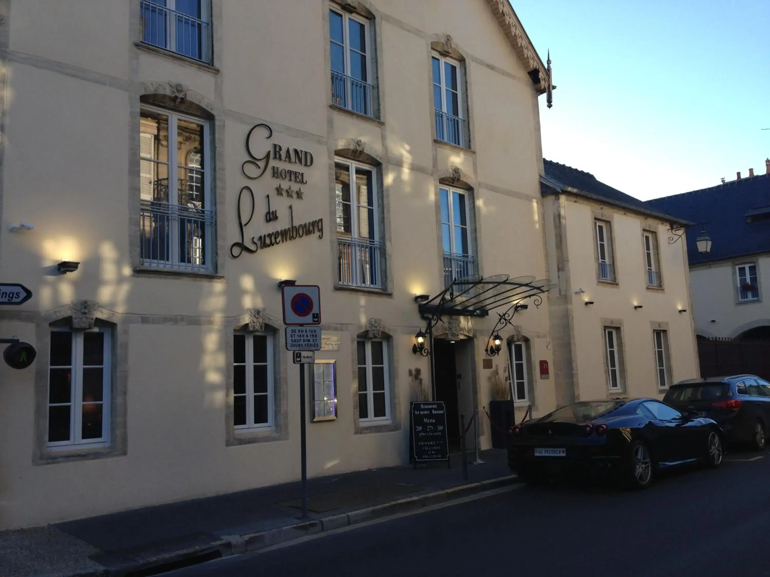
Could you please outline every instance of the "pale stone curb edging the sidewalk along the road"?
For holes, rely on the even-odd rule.
[[[399,513],[414,511],[416,509],[430,507],[431,505],[437,505],[443,502],[462,499],[469,495],[498,489],[507,485],[515,485],[516,482],[516,475],[507,475],[505,477],[498,477],[497,479],[487,479],[487,481],[469,483],[468,485],[460,485],[459,487],[452,487],[451,489],[442,489],[437,492],[427,493],[427,495],[417,495],[416,497],[399,499],[398,501],[384,503],[383,505],[375,505],[373,507],[367,507],[366,509],[359,509],[349,513],[332,515],[330,517],[324,517],[323,519],[313,519],[311,521],[297,523],[296,525],[277,527],[276,529],[268,529],[267,531],[248,533],[246,535],[226,535],[222,538],[222,541],[214,542],[206,547],[186,549],[184,551],[172,553],[171,555],[165,555],[159,559],[147,559],[142,562],[136,562],[130,566],[125,565],[120,568],[100,569],[98,571],[90,572],[65,573],[58,575],[58,577],[122,577],[122,575],[127,575],[131,572],[142,569],[152,569],[153,567],[159,567],[160,565],[166,565],[167,563],[172,562],[182,562],[185,559],[191,559],[198,555],[205,555],[206,553],[214,552],[216,550],[219,550],[223,557],[240,555],[245,552],[259,551],[259,549],[264,549],[272,545],[300,539],[307,535],[315,535],[316,533],[324,531],[342,529],[343,527],[358,525],[359,523],[372,521],[373,519],[389,517],[390,515],[397,515]]]

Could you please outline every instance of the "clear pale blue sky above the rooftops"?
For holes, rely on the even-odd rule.
[[[644,200],[765,173],[770,0],[511,0],[537,52],[543,155]]]

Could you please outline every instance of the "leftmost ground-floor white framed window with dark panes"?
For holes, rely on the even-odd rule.
[[[111,332],[52,328],[48,446],[109,445]]]

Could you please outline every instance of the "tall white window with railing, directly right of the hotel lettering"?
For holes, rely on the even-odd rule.
[[[340,285],[385,288],[377,168],[337,158],[334,175]]]

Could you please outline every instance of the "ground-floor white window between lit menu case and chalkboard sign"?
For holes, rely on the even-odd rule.
[[[390,375],[387,342],[359,340],[358,419],[361,422],[390,419]]]

